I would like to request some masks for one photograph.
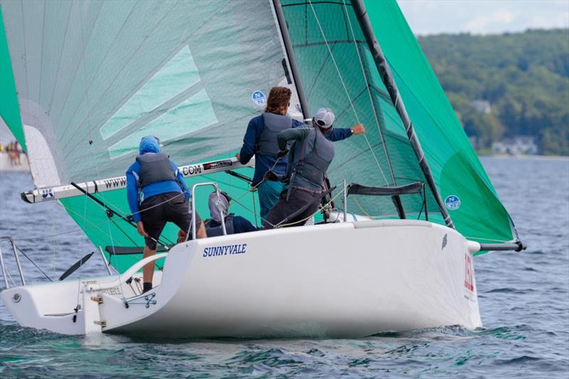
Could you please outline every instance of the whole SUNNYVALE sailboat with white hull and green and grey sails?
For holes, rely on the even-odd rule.
[[[38,284],[20,270],[9,287],[2,261],[1,300],[22,326],[173,338],[482,326],[473,257],[523,244],[394,0],[14,0],[1,14],[15,105],[2,117],[36,185],[21,197],[62,206],[107,267]],[[366,126],[336,144],[314,225],[181,243],[169,226],[142,260],[123,176],[141,137],[184,164],[191,211],[225,191],[258,225],[254,162],[234,156],[276,85],[292,90],[292,117],[329,107],[335,126]]]

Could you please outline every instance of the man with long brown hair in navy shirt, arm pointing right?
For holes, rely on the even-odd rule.
[[[287,116],[291,96],[292,92],[287,87],[271,88],[265,112],[250,119],[245,137],[243,137],[243,147],[236,154],[241,164],[247,164],[255,155],[255,174],[252,186],[259,194],[261,218],[265,218],[285,188],[284,183],[263,178],[267,171],[272,170],[275,174],[283,176],[287,169],[287,156],[277,157],[279,152],[277,135],[286,129],[306,127],[304,122]],[[336,142],[364,132],[366,129],[363,125],[357,124],[346,129],[331,129],[326,134],[326,138]]]

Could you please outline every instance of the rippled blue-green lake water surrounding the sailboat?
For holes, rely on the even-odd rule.
[[[528,244],[475,260],[484,328],[384,333],[357,340],[147,343],[60,336],[18,326],[0,306],[0,375],[31,377],[569,376],[569,161],[482,159]],[[92,246],[54,204],[28,205],[27,174],[0,175],[0,235],[57,277]],[[36,245],[37,244],[37,245]],[[4,245],[2,245],[5,247]],[[6,251],[6,250],[4,250]],[[28,282],[42,279],[23,262]],[[12,267],[13,268],[13,267]],[[83,274],[102,272],[93,257]],[[15,272],[14,270],[12,272]],[[57,276],[56,276],[57,275]],[[16,278],[14,278],[16,279]]]

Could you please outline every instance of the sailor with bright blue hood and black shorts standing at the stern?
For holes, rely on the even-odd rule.
[[[139,235],[144,236],[143,258],[156,254],[156,242],[166,222],[180,228],[179,242],[186,239],[191,226],[188,199],[191,196],[176,164],[160,152],[153,136],[140,141],[137,161],[127,170],[127,199]],[[206,228],[196,213],[198,238],[205,238]],[[154,262],[142,267],[144,292],[152,289]]]

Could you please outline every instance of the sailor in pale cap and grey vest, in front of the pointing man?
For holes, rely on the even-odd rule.
[[[284,176],[274,171],[267,173],[271,180],[288,183],[287,191],[271,208],[263,228],[277,226],[299,226],[309,218],[326,193],[326,170],[334,159],[334,144],[326,138],[334,123],[334,113],[328,108],[320,108],[314,115],[314,127],[298,127],[282,131],[277,136],[279,153],[288,156],[287,171]],[[289,142],[293,142],[289,150]]]

